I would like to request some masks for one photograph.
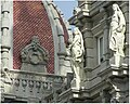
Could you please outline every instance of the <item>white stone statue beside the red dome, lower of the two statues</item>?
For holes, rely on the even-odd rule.
[[[72,68],[74,72],[74,83],[76,83],[76,88],[80,89],[80,77],[81,77],[81,69],[83,67],[83,39],[80,30],[78,27],[74,28],[74,39],[72,44],[69,46],[70,53],[72,53]],[[72,81],[72,82],[73,82]]]

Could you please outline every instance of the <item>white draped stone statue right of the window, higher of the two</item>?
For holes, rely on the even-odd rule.
[[[113,4],[113,16],[109,28],[109,49],[114,52],[116,65],[119,65],[120,56],[125,56],[123,44],[125,44],[125,31],[126,21],[125,16],[119,9],[118,4]]]

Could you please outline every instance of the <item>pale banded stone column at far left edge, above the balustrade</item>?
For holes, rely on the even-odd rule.
[[[2,32],[2,43],[1,43],[1,62],[2,69],[9,69],[9,51],[10,51],[10,42],[9,42],[9,13],[10,13],[10,2],[2,2],[2,22],[1,22],[1,32]]]

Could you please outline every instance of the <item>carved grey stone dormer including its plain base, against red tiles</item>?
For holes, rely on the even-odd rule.
[[[49,61],[48,51],[40,46],[38,36],[31,38],[30,44],[26,46],[22,52],[21,70],[34,73],[47,73],[47,64]]]

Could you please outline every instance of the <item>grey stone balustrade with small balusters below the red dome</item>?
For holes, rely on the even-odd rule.
[[[10,70],[9,78],[11,82],[6,82],[4,78],[4,98],[12,96],[15,100],[20,98],[28,102],[28,98],[44,100],[46,96],[53,93],[56,89],[61,89],[65,77],[52,74],[29,73],[23,70]]]

